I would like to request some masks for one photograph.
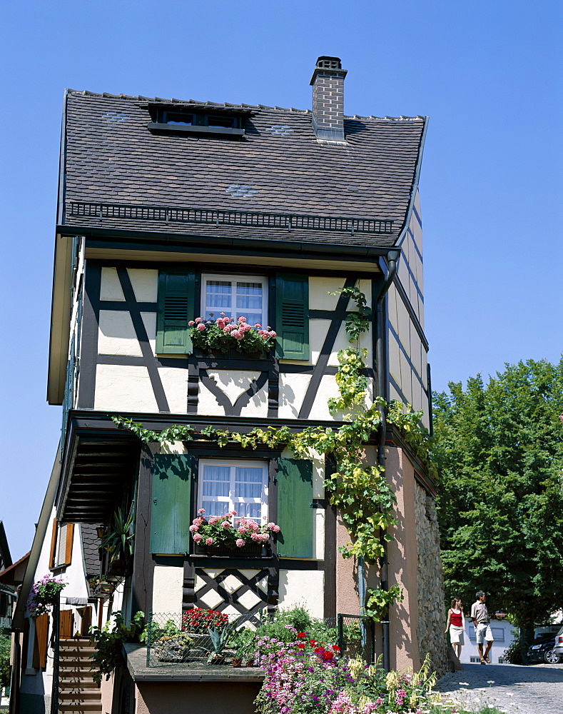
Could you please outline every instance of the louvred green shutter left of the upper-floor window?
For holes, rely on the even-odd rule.
[[[188,321],[193,320],[195,275],[186,271],[158,274],[158,316],[156,352],[187,354],[191,352]]]

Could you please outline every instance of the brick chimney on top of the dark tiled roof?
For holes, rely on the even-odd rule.
[[[340,58],[319,57],[311,77],[313,129],[317,139],[344,141],[344,78]]]

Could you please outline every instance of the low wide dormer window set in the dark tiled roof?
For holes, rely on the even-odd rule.
[[[182,111],[177,108],[155,108],[151,111],[156,121],[151,121],[148,128],[151,131],[174,131],[188,134],[226,134],[229,136],[243,136],[245,131],[241,128],[242,117],[233,112],[213,111],[193,112]]]

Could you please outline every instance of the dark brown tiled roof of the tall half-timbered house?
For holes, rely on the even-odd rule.
[[[153,134],[158,103],[246,110],[243,139]],[[345,145],[315,139],[310,111],[69,91],[67,225],[203,236],[392,246],[405,221],[423,117],[348,117]],[[71,203],[114,203],[305,216],[391,218],[385,235],[74,216]]]

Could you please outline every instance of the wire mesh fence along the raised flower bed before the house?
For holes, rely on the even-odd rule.
[[[273,623],[265,613],[238,615],[199,608],[181,615],[151,612],[146,626],[146,664],[198,667],[232,662],[235,667],[252,667],[258,663],[260,639]],[[374,660],[375,626],[370,618],[338,614],[314,620],[305,630],[308,637],[325,646],[338,645],[341,656],[362,658],[367,663]]]

